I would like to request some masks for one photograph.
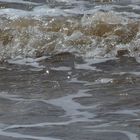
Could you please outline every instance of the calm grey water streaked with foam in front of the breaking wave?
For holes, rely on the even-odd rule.
[[[45,60],[39,71],[1,65],[1,139],[140,138],[140,66],[135,59],[100,64],[71,56],[53,60]]]

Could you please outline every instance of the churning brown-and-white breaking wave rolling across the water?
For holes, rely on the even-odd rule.
[[[97,8],[75,15],[68,9],[41,7],[33,11],[0,10],[1,61],[62,52],[88,58],[122,55],[139,58],[138,17],[132,19],[129,13],[102,12]]]

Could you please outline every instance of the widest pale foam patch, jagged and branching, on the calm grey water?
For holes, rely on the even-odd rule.
[[[66,112],[65,116],[67,117],[71,117],[72,119],[78,118],[79,120],[80,118],[85,118],[88,120],[89,118],[95,117],[95,115],[86,111],[79,111],[82,109],[87,109],[89,107],[85,107],[80,103],[75,102],[73,99],[78,97],[90,97],[90,96],[91,95],[85,93],[84,90],[80,90],[76,95],[68,95],[58,99],[52,99],[47,101],[47,103],[61,107]],[[97,105],[92,106],[92,108],[96,107]]]

